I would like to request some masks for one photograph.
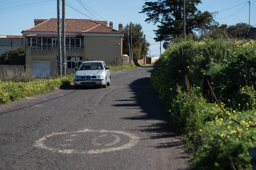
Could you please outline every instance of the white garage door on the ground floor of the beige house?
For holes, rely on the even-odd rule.
[[[41,77],[41,71],[42,71],[42,77],[50,77],[51,75],[51,62],[45,61],[33,61],[32,62],[32,74],[36,77]]]

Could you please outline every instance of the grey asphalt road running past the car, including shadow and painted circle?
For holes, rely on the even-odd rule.
[[[0,169],[187,169],[151,69],[112,73],[105,89],[71,86],[0,105]]]

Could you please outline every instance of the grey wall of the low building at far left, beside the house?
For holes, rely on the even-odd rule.
[[[23,39],[0,38],[0,55],[23,45]]]

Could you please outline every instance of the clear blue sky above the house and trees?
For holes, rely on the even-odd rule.
[[[140,14],[145,0],[82,0],[88,7],[95,11],[108,22],[112,21],[114,29],[118,29],[119,23],[126,25],[131,21],[142,25],[144,33],[148,36],[147,40],[152,44],[150,46],[151,56],[160,55],[160,43],[155,42],[154,32],[149,31],[156,29],[156,25],[148,24],[144,20],[147,18],[145,14]],[[232,6],[245,3],[245,0],[202,0],[202,4],[197,7],[201,11],[222,11]],[[36,4],[37,3],[37,4]],[[74,5],[83,11],[87,16],[94,18],[87,12],[77,0],[66,0],[66,3]],[[29,4],[29,5],[26,5]],[[24,5],[24,6],[19,6]],[[244,6],[245,5],[245,6]],[[18,6],[18,7],[13,7]],[[9,8],[13,7],[13,8]],[[244,8],[243,8],[244,7]],[[240,11],[239,11],[240,10]],[[239,12],[237,12],[239,11]],[[236,13],[237,12],[237,13]],[[92,11],[91,11],[92,13]],[[233,16],[232,14],[236,13]],[[103,20],[95,13],[92,13],[99,20]],[[0,35],[21,35],[21,31],[34,26],[34,19],[57,18],[57,0],[8,0],[2,1],[0,4]],[[230,17],[228,17],[230,16]],[[228,18],[226,18],[228,17]],[[90,19],[72,8],[66,6],[66,18],[82,18]],[[219,19],[224,18],[224,19]],[[256,25],[256,0],[251,1],[251,21],[250,24]],[[96,20],[96,19],[95,19]],[[248,3],[236,6],[232,9],[222,11],[216,16],[216,21],[220,24],[234,25],[240,22],[249,22],[249,5]],[[149,38],[151,37],[151,38]],[[162,48],[162,53],[164,49]]]

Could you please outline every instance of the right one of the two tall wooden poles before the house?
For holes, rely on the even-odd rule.
[[[64,76],[66,76],[65,0],[62,0],[62,58]]]

